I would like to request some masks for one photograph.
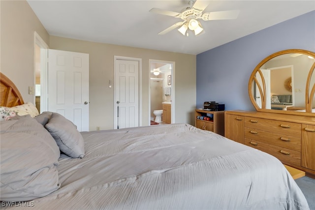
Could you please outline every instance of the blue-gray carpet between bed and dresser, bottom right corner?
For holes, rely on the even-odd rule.
[[[302,177],[295,180],[295,182],[300,187],[307,202],[309,203],[310,210],[315,210],[315,179]]]

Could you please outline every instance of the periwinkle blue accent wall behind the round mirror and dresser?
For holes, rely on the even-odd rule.
[[[224,103],[225,110],[254,110],[248,95],[252,70],[286,49],[315,52],[315,11],[198,54],[196,108],[216,101]]]

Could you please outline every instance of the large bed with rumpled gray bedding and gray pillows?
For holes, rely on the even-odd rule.
[[[3,209],[309,209],[278,159],[213,132],[182,123],[75,130],[49,112],[1,121]]]

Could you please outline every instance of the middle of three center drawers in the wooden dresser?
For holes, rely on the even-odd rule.
[[[301,138],[288,136],[286,134],[245,127],[245,137],[290,150],[301,151]]]

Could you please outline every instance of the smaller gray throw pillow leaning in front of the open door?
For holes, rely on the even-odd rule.
[[[45,128],[54,137],[59,149],[70,157],[84,157],[84,140],[70,120],[53,113]]]

